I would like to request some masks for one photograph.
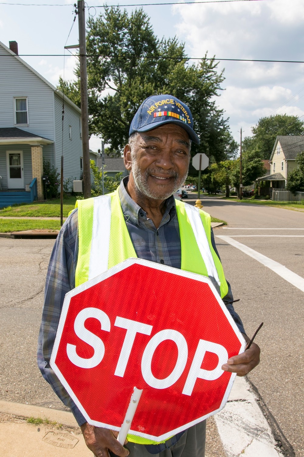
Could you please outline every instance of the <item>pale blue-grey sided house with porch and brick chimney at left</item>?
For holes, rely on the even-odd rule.
[[[82,175],[81,110],[18,56],[18,45],[0,42],[0,207],[43,200],[42,158],[63,175]],[[63,146],[63,148],[62,148]],[[97,154],[91,154],[96,162]],[[36,180],[35,180],[36,178]],[[35,186],[34,186],[35,184]]]

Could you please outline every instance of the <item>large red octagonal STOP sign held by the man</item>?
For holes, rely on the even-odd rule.
[[[209,278],[128,259],[68,292],[51,367],[89,424],[162,441],[222,409],[245,340]]]

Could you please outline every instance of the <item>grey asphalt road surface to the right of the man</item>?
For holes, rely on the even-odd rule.
[[[304,288],[227,242],[229,237],[267,256],[304,278],[304,213],[275,207],[203,198],[203,209],[226,220],[214,230],[224,271],[232,285],[235,304],[247,334],[263,321],[256,338],[261,363],[248,376],[258,389],[265,412],[278,437],[281,434],[304,456],[303,304]],[[295,230],[296,229],[296,230]]]

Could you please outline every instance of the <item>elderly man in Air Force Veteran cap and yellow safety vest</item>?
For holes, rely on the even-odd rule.
[[[191,141],[199,143],[188,106],[171,95],[151,96],[139,107],[129,133],[124,148],[129,177],[110,196],[79,201],[58,235],[46,278],[38,364],[43,377],[71,408],[95,456],[125,457],[130,453],[137,457],[204,457],[205,421],[162,443],[144,440],[139,444],[136,437],[129,436],[128,449],[121,446],[116,432],[86,422],[49,365],[65,294],[130,256],[208,275],[249,340],[231,304],[232,293],[216,251],[209,216],[190,206],[185,209],[184,203],[172,197],[187,176]],[[203,224],[209,243],[207,255],[197,248],[195,223],[187,216],[190,213],[196,223],[199,218]],[[101,219],[110,228],[107,242],[98,244],[98,237],[104,241],[105,236],[104,232],[98,233]],[[104,244],[108,245],[107,252]],[[209,263],[214,274],[206,273],[210,271]],[[258,365],[259,352],[253,343],[243,354],[230,358],[222,369],[243,376]]]

